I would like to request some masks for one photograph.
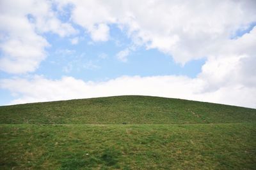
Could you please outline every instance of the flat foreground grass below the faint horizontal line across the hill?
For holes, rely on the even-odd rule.
[[[0,125],[0,169],[255,169],[256,124]]]

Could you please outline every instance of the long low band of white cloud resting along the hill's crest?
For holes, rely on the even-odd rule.
[[[255,87],[227,85],[212,92],[202,92],[205,82],[200,78],[192,79],[186,76],[122,76],[102,82],[83,81],[72,77],[48,80],[42,76],[35,76],[30,80],[5,79],[1,80],[0,84],[1,88],[20,95],[12,101],[12,104],[129,94],[174,97],[256,108]]]

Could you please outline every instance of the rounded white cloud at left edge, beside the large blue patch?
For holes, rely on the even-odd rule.
[[[0,31],[7,32],[0,43],[0,70],[7,73],[34,71],[46,57],[47,41],[33,31],[26,18],[1,15],[0,22]]]

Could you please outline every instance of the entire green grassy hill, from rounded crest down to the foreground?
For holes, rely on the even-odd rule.
[[[255,169],[256,110],[148,96],[0,107],[0,169]]]

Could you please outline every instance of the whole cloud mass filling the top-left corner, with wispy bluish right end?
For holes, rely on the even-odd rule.
[[[0,22],[0,70],[14,74],[35,71],[45,59],[49,43],[40,34],[77,32],[57,18],[51,1],[1,1]]]

